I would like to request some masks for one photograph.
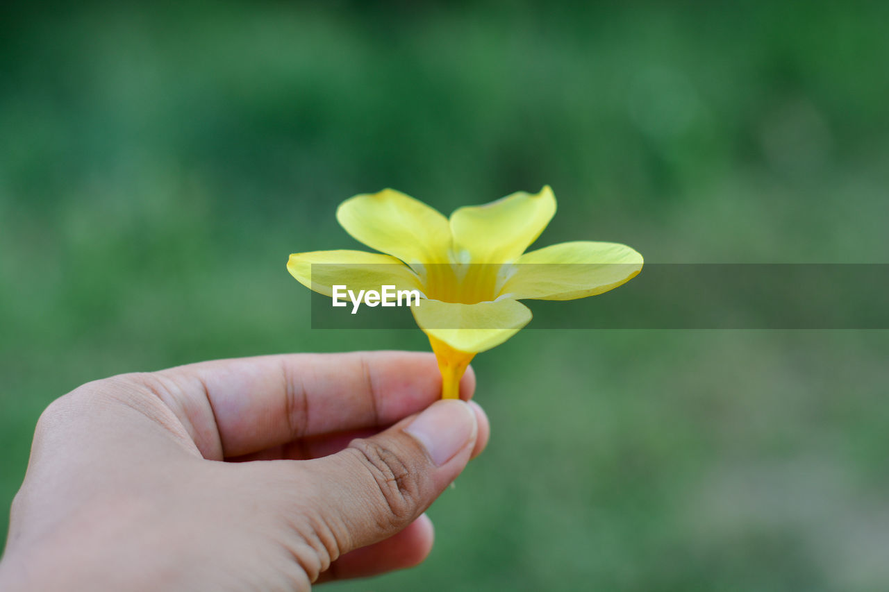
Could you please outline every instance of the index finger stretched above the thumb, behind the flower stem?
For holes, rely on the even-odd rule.
[[[172,380],[173,411],[208,458],[240,456],[303,436],[388,426],[441,396],[431,353],[284,354],[155,372]],[[461,398],[475,390],[468,369]],[[183,418],[184,416],[184,418]]]

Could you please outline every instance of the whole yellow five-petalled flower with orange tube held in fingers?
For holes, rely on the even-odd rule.
[[[500,345],[531,320],[517,300],[573,300],[607,292],[642,269],[623,244],[575,241],[525,252],[556,213],[548,187],[467,206],[445,218],[394,189],[354,196],[336,217],[372,249],[293,253],[287,269],[300,284],[332,295],[334,284],[418,290],[412,313],[442,373],[442,396],[456,398],[478,352]]]

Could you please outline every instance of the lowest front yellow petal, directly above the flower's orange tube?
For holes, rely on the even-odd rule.
[[[411,311],[430,340],[472,354],[499,346],[531,320],[531,311],[516,300],[461,304],[421,299]]]

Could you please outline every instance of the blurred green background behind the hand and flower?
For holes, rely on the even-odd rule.
[[[579,5],[4,4],[0,507],[84,381],[428,349],[309,329],[284,263],[356,246],[356,193],[448,213],[549,183],[539,244],[887,262],[889,4]],[[332,588],[889,589],[887,356],[876,331],[521,332],[475,361],[493,439],[427,563]]]

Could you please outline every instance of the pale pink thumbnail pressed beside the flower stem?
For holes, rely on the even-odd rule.
[[[420,440],[436,467],[441,467],[476,436],[476,414],[460,400],[436,401],[404,431]]]

